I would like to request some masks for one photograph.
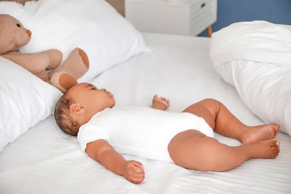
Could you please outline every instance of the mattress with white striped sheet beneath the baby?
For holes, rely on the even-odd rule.
[[[167,111],[181,112],[199,100],[215,98],[246,125],[264,124],[213,70],[209,38],[143,35],[151,52],[91,81],[111,91],[117,106],[150,106],[158,94],[171,100]],[[240,145],[234,139],[215,137],[229,146]],[[145,165],[146,178],[136,185],[85,156],[77,139],[58,129],[51,116],[0,153],[0,194],[290,194],[291,138],[279,133],[277,139],[281,152],[276,159],[249,160],[220,173],[124,155]]]

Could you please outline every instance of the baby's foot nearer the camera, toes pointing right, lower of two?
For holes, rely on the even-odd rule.
[[[280,152],[280,142],[278,140],[267,140],[254,144],[245,145],[250,151],[250,158],[276,158]]]

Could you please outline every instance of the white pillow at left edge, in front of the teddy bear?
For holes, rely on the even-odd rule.
[[[61,95],[54,86],[0,57],[0,151],[49,117]]]

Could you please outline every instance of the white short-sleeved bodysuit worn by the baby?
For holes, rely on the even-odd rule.
[[[78,140],[83,151],[87,143],[104,139],[121,154],[173,163],[168,144],[175,135],[188,129],[214,138],[205,120],[191,113],[149,107],[113,107],[96,113],[82,125]]]

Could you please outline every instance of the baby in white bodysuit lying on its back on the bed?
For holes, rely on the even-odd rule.
[[[149,107],[116,107],[113,94],[90,83],[70,88],[58,101],[55,119],[81,149],[105,168],[133,183],[145,178],[144,165],[121,154],[175,163],[199,171],[228,171],[254,159],[274,159],[280,142],[271,140],[279,126],[248,127],[214,99],[204,99],[182,113],[164,111],[170,101],[154,96]],[[226,146],[214,133],[239,140]]]

